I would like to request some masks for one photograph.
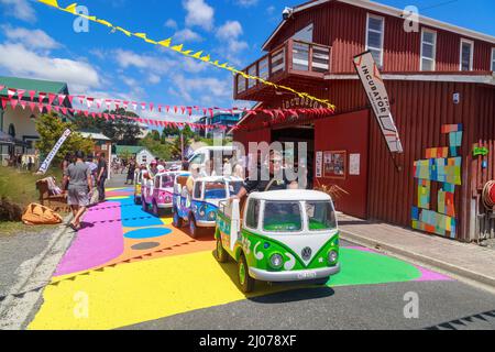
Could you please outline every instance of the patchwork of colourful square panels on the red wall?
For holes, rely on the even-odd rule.
[[[454,209],[455,186],[461,186],[459,148],[462,145],[462,124],[446,124],[443,134],[449,136],[449,146],[426,150],[426,158],[415,162],[415,178],[418,179],[417,204],[413,207],[413,228],[443,237],[455,238],[457,218]],[[431,183],[439,183],[438,194],[431,194]],[[437,197],[437,209],[432,209],[431,197]]]

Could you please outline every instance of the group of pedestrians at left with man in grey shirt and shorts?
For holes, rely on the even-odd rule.
[[[67,204],[74,215],[68,226],[77,231],[81,227],[80,220],[88,207],[105,201],[108,164],[105,153],[97,157],[86,157],[84,152],[78,151],[74,155],[66,155],[62,169],[64,172],[63,189],[67,194]]]

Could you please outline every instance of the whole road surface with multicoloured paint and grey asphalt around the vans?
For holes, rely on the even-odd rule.
[[[144,211],[132,188],[107,199],[85,216],[30,329],[495,328],[495,296],[344,241],[326,286],[257,283],[244,295],[212,235],[194,240]],[[404,316],[408,293],[417,319]]]

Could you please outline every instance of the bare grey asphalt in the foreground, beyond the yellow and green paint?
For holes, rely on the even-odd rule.
[[[341,244],[353,245],[345,241]],[[417,319],[404,316],[408,293],[418,295]],[[495,296],[455,280],[315,287],[249,298],[124,329],[495,330]]]

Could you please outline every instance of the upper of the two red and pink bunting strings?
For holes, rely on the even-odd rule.
[[[2,86],[0,86],[2,87]],[[6,86],[3,86],[3,88],[6,88]],[[1,89],[0,89],[1,91]],[[11,99],[13,97],[15,97],[15,95],[18,96],[18,100],[22,100],[22,98],[24,97],[25,90],[23,89],[18,89],[18,88],[12,88],[12,87],[7,87],[7,91],[8,91],[8,98]],[[46,92],[42,92],[42,91],[36,91],[36,90],[29,90],[29,95],[30,95],[30,99],[31,102],[34,102],[34,97],[37,92],[38,96],[38,103],[43,102],[46,98],[48,98],[48,105],[53,105],[54,102],[58,102],[58,106],[63,106],[65,103],[66,100],[69,101],[70,106],[73,105],[73,100],[74,100],[74,96],[70,95],[64,95],[64,94],[46,94]],[[155,112],[156,109],[155,107],[157,106],[157,110],[158,112],[163,112],[164,108],[166,113],[170,112],[170,106],[165,106],[165,105],[155,105],[153,102],[141,102],[138,103],[135,101],[122,101],[119,99],[102,99],[102,98],[95,98],[95,97],[87,97],[85,95],[78,95],[77,96],[78,102],[81,106],[87,107],[88,109],[91,109],[92,107],[96,106],[97,109],[100,109],[103,106],[107,108],[107,110],[119,110],[120,108],[123,108],[124,110],[128,110],[129,106],[131,106],[131,109],[134,112],[140,112],[141,111],[150,111],[150,112]],[[296,103],[307,103],[307,100],[299,100],[297,101],[296,98]],[[112,109],[112,106],[114,107],[114,109]],[[139,109],[138,107],[141,107],[141,109]],[[150,109],[147,109],[146,107],[150,107]],[[317,109],[317,111],[319,111],[318,109],[321,109],[321,107],[319,108],[310,108],[310,109],[306,109],[306,108],[293,108],[293,109],[248,109],[248,108],[238,108],[238,107],[233,107],[233,108],[219,108],[219,107],[187,107],[187,106],[174,106],[173,110],[175,114],[182,114],[184,117],[191,117],[193,116],[193,111],[196,112],[201,112],[204,113],[204,116],[207,116],[207,112],[210,117],[213,117],[216,112],[224,112],[224,113],[229,113],[229,114],[234,114],[234,113],[258,113],[258,112],[265,112],[268,113],[270,116],[274,117],[275,114],[277,114],[277,111],[283,111],[283,112],[288,112],[292,113],[294,116],[297,116],[298,113],[300,113],[302,110],[307,111],[307,110],[311,110],[311,109]],[[333,108],[327,108],[329,110],[331,110],[331,112],[333,113],[334,109]],[[266,112],[270,111],[270,112]]]

